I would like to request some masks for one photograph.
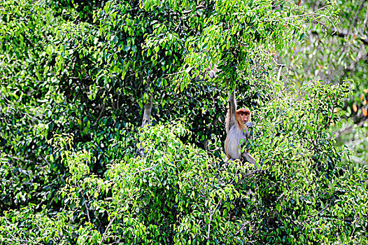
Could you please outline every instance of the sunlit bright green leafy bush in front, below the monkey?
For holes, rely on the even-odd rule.
[[[143,128],[132,143],[141,142],[145,156],[127,153],[99,177],[88,168],[90,153],[73,152],[72,139],[59,135],[55,150],[69,169],[58,194],[64,208],[51,219],[32,207],[6,212],[4,241],[20,235],[29,244],[365,242],[368,195],[365,183],[353,183],[367,178],[367,169],[349,174],[339,163],[344,148],[331,144],[327,129],[348,87],[314,83],[305,91],[278,97],[279,85],[257,113],[251,152],[258,169],[183,144],[178,138],[190,131],[171,123]]]

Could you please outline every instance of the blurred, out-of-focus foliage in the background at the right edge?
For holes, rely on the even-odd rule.
[[[311,11],[325,8],[323,1],[303,1]],[[353,94],[344,105],[342,125],[333,128],[339,145],[354,151],[355,165],[368,161],[368,2],[337,1],[339,22],[328,29],[309,30],[304,43],[296,43],[281,62],[287,64],[285,82],[298,85],[323,79],[340,83],[353,79]]]

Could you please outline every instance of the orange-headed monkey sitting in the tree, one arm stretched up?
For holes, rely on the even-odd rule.
[[[240,159],[255,165],[255,159],[247,152],[241,153],[241,144],[246,139],[253,139],[253,123],[250,122],[249,109],[236,110],[235,90],[229,95],[229,111],[225,120],[225,153],[228,160]]]

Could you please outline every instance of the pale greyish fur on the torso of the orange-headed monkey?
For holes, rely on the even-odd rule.
[[[246,139],[245,130],[241,130],[235,125],[230,127],[230,130],[226,137],[226,152],[229,158],[239,159],[241,158],[241,144]]]

